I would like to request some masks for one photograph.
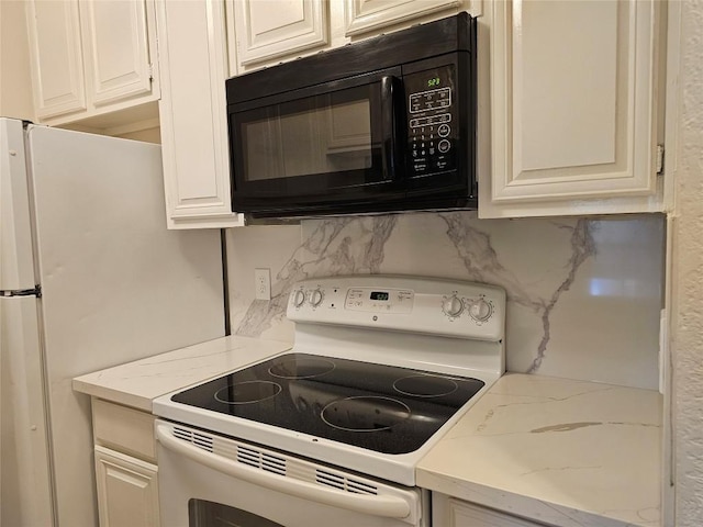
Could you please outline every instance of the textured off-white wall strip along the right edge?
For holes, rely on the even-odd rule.
[[[682,9],[673,221],[676,526],[703,524],[703,2]]]

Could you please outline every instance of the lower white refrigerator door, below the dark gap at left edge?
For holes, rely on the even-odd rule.
[[[36,299],[0,298],[0,525],[51,526]]]

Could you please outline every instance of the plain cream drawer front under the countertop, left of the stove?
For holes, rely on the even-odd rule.
[[[156,460],[152,414],[93,399],[92,428],[97,445],[148,461]]]

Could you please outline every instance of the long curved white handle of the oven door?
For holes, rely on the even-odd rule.
[[[177,439],[170,434],[170,429],[164,425],[156,426],[156,437],[165,448],[197,463],[272,491],[372,516],[387,518],[406,518],[410,516],[410,504],[402,497],[353,494],[265,472]]]

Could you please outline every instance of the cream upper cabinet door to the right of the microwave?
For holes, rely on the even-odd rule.
[[[479,172],[492,176],[480,181],[481,216],[613,197],[644,197],[647,210],[657,187],[660,3],[488,4],[490,42],[479,41],[479,53],[490,45],[492,155],[491,172]]]

